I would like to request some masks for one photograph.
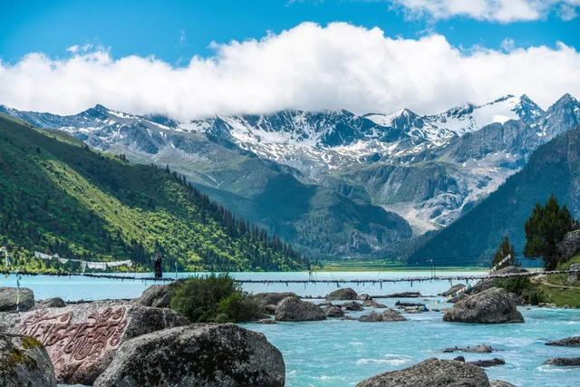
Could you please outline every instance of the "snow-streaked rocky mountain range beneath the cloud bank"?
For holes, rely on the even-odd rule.
[[[580,123],[569,94],[546,111],[507,95],[427,115],[277,111],[179,122],[102,105],[72,116],[0,112],[137,163],[169,165],[238,216],[320,257],[399,256]]]

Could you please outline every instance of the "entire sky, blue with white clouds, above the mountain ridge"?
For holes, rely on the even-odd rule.
[[[580,0],[0,0],[0,104],[179,120],[580,95]]]

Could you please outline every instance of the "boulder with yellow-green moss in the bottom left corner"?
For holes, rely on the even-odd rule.
[[[56,387],[48,353],[38,340],[20,334],[0,334],[0,385]]]

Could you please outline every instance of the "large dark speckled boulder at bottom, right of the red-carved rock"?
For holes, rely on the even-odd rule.
[[[284,386],[285,364],[264,334],[235,324],[191,324],[121,345],[95,387]]]

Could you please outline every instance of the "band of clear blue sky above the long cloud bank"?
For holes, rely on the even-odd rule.
[[[446,20],[410,18],[387,1],[201,0],[201,1],[2,1],[0,56],[14,63],[24,54],[65,54],[73,44],[107,47],[114,57],[155,55],[181,64],[213,53],[211,42],[259,39],[304,21],[342,21],[378,26],[389,36],[443,34],[450,44],[499,48],[505,39],[520,47],[557,41],[580,47],[579,19],[547,12],[537,21],[498,23],[465,15]]]

